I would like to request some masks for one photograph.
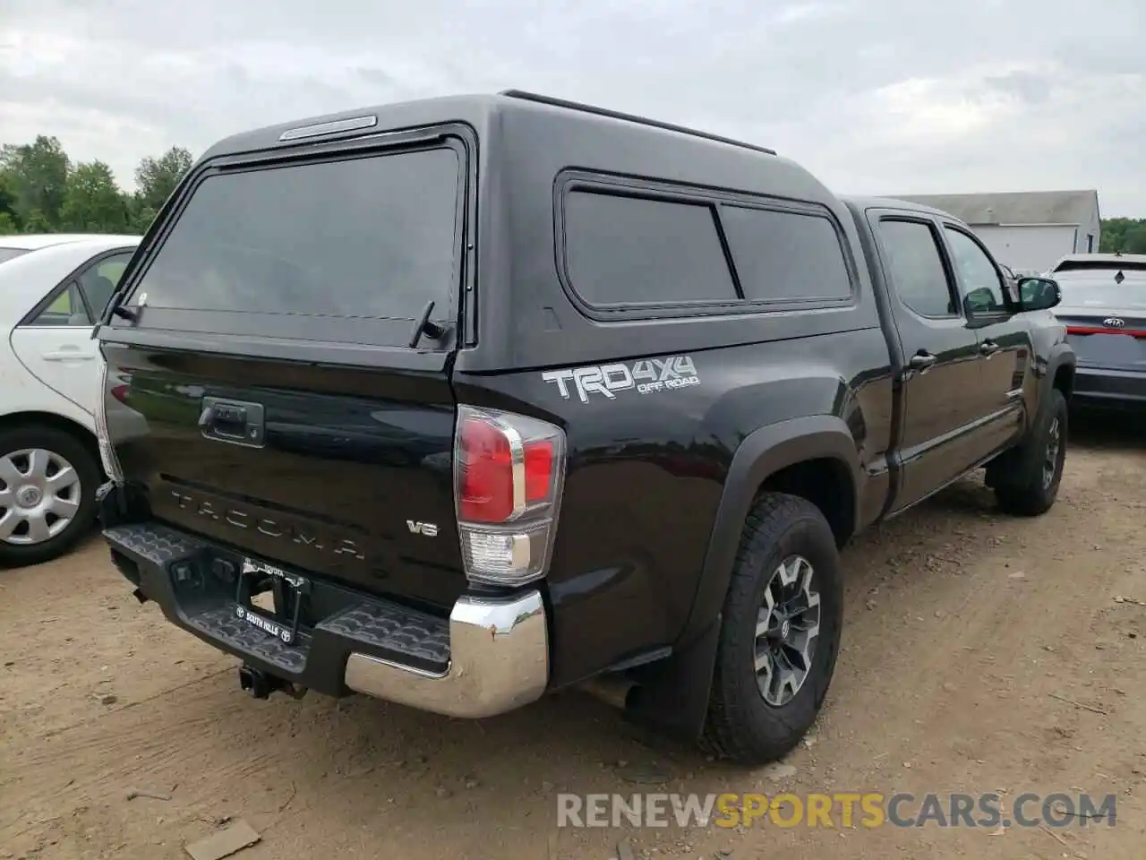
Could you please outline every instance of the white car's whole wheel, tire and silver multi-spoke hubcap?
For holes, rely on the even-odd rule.
[[[100,466],[78,438],[53,427],[0,431],[0,564],[50,561],[95,519]]]

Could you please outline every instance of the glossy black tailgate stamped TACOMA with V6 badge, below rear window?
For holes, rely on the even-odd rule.
[[[445,374],[104,351],[109,432],[155,518],[375,593],[462,592]]]

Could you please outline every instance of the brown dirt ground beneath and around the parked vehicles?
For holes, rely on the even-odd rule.
[[[245,819],[262,841],[242,860],[1141,860],[1144,560],[1141,425],[1076,425],[1042,518],[1005,518],[961,482],[846,550],[825,712],[785,767],[746,772],[580,693],[481,722],[366,698],[252,701],[236,662],[136,604],[93,539],[0,571],[0,857],[186,857]],[[1114,827],[1062,829],[558,829],[563,791],[1000,791],[1004,807],[1086,791],[1117,806]]]

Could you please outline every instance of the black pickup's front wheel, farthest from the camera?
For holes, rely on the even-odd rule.
[[[1067,456],[1067,416],[1066,398],[1051,389],[1027,438],[991,463],[995,497],[1005,513],[1039,516],[1054,505]],[[1052,458],[1055,428],[1058,443]]]

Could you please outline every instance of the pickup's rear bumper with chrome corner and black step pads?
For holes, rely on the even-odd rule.
[[[446,619],[299,574],[291,588],[305,588],[307,604],[324,611],[306,624],[296,612],[291,624],[238,602],[249,560],[227,547],[154,522],[103,534],[136,596],[295,687],[478,718],[528,704],[549,683],[549,633],[537,591],[501,600],[463,594]]]

